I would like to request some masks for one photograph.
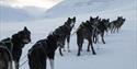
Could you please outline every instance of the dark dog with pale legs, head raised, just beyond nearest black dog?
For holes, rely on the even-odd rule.
[[[72,27],[75,26],[75,24],[76,24],[76,16],[73,16],[72,19],[68,18],[67,22],[65,22],[64,25],[61,25],[55,30],[55,33],[61,35],[61,37],[60,37],[61,46],[59,46],[59,53],[61,56],[62,56],[61,48],[64,48],[64,50],[65,50],[66,41],[68,43],[67,49],[68,49],[68,51],[70,51],[70,49],[69,49],[70,34],[71,34],[71,31],[72,31]]]

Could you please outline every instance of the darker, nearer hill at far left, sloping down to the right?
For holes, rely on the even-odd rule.
[[[9,5],[0,5],[0,21],[24,21],[28,20],[30,15],[25,10],[19,8],[12,8]]]

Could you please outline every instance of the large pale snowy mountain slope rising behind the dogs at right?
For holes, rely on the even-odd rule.
[[[118,9],[134,4],[135,0],[64,0],[49,9],[46,18],[71,16],[104,10]]]

